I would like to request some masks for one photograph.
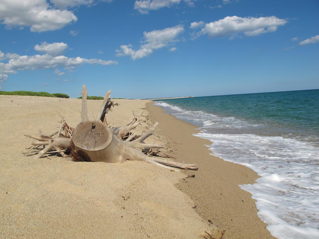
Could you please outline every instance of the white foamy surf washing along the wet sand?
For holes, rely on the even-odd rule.
[[[187,111],[156,102],[170,113],[197,125],[195,136],[212,142],[212,155],[243,164],[260,178],[240,185],[256,200],[258,216],[271,235],[282,239],[319,238],[319,150],[306,141],[254,134],[267,125],[203,111]]]

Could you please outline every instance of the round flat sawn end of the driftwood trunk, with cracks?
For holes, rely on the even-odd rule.
[[[100,121],[85,121],[78,124],[72,134],[76,147],[88,151],[106,148],[112,141],[112,132]]]

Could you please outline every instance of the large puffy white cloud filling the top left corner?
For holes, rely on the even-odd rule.
[[[0,21],[6,28],[31,26],[32,32],[61,29],[78,18],[67,10],[52,9],[46,0],[2,0]]]

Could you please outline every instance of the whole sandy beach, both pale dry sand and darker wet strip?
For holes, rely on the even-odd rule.
[[[164,143],[174,160],[197,163],[199,170],[25,156],[31,140],[23,135],[56,131],[59,113],[75,127],[81,100],[1,95],[1,238],[204,238],[205,231],[220,238],[224,230],[225,239],[272,238],[254,200],[238,186],[253,183],[255,172],[209,155],[207,141],[192,136],[195,126],[151,101],[116,101],[109,123],[124,125],[132,110],[146,107],[137,134],[158,121],[147,142]],[[91,119],[100,104],[88,100]]]

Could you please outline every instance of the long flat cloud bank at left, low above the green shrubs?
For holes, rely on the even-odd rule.
[[[1,51],[0,51],[1,52]],[[2,53],[2,52],[1,52]],[[7,74],[16,74],[20,70],[35,70],[35,69],[49,69],[63,67],[64,69],[73,69],[76,66],[83,64],[99,64],[111,65],[117,64],[116,61],[105,61],[101,59],[85,59],[81,57],[66,57],[64,55],[19,55],[19,54],[5,54],[7,63],[0,62],[0,83],[8,78]],[[55,70],[58,76],[64,75],[64,72]]]

